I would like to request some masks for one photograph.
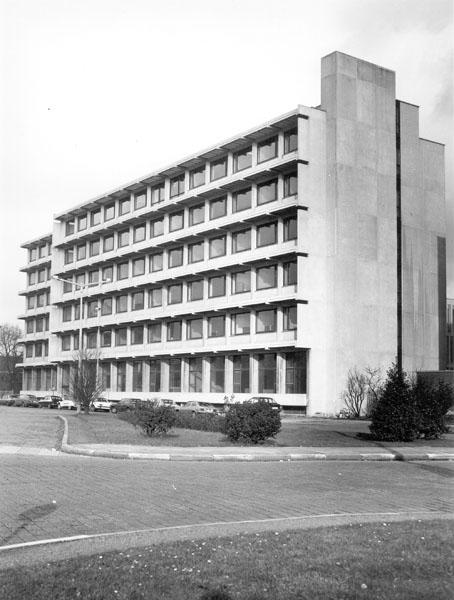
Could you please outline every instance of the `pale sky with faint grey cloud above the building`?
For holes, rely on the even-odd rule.
[[[446,144],[454,297],[452,0],[0,0],[0,323],[53,215],[320,102],[334,50],[396,71]]]

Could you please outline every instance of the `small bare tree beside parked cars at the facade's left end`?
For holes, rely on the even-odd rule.
[[[97,368],[99,351],[83,348],[75,353],[74,361],[70,381],[71,395],[77,404],[77,412],[83,410],[88,414],[90,404],[104,391]]]

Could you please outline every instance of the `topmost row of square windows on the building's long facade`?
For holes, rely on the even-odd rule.
[[[284,133],[284,154],[293,152],[297,149],[298,135],[297,130],[292,129]],[[263,163],[278,155],[278,136],[272,136],[257,144],[257,163]],[[252,146],[240,150],[233,154],[233,173],[243,171],[252,166]],[[209,176],[210,181],[216,181],[228,174],[227,156],[211,161],[207,165],[202,165],[189,171],[188,184],[189,189],[195,189],[204,185]],[[186,175],[182,173],[177,177],[173,177],[169,181],[170,198],[179,196],[185,192]],[[294,192],[296,193],[296,192]],[[153,187],[151,190],[151,204],[157,204],[165,200],[165,185]],[[146,191],[141,191],[131,197],[124,198],[118,203],[118,215],[122,216],[131,212],[131,210],[139,210],[147,205]],[[77,219],[77,231],[84,231],[90,225],[95,227],[104,219],[108,222],[115,218],[115,203],[108,204],[103,208],[103,211],[98,208],[88,214],[84,214]],[[76,221],[69,220],[65,223],[65,234],[72,235],[76,230]]]

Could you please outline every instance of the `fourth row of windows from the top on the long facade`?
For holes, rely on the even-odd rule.
[[[276,263],[255,269],[255,290],[276,288],[278,286],[278,267],[279,264]],[[282,270],[281,285],[296,285],[298,281],[297,261],[292,260],[282,263]],[[231,293],[242,294],[252,291],[252,274],[251,270],[231,273]],[[218,298],[226,295],[226,289],[226,275],[215,275],[207,279],[174,283],[165,287],[140,290],[132,294],[108,296],[100,302],[98,300],[90,300],[86,304],[86,315],[88,318],[94,318],[98,315],[111,315],[114,311],[118,314],[130,310],[144,310],[147,305],[148,308],[157,308],[180,304],[185,301],[194,302],[196,300],[203,300],[204,297]],[[79,303],[74,305],[69,304],[62,308],[63,322],[78,321],[79,318]]]

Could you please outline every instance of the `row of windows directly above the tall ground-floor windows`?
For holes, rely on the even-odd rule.
[[[255,333],[270,333],[277,330],[277,309],[257,310],[250,312],[237,312],[230,315],[230,335],[247,335],[251,333],[251,314],[255,316]],[[292,331],[297,327],[297,308],[288,306],[282,309],[283,331]],[[129,330],[129,337],[128,337]],[[87,348],[101,346],[107,348],[112,346],[127,346],[135,344],[152,344],[165,341],[176,342],[183,339],[183,331],[186,331],[187,340],[224,337],[226,335],[226,315],[215,315],[213,317],[199,317],[195,319],[175,320],[167,323],[152,323],[150,325],[136,325],[133,327],[118,327],[114,330],[104,329],[98,334],[96,331],[86,334]],[[71,348],[72,339],[72,348]],[[61,338],[62,351],[78,350],[79,336],[65,334]]]

